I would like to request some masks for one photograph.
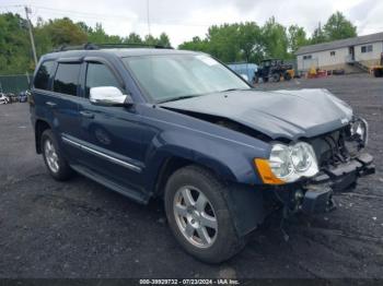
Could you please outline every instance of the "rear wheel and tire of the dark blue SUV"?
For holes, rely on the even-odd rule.
[[[50,129],[45,130],[40,140],[43,158],[51,177],[58,181],[68,180],[72,169],[65,159],[54,132]]]

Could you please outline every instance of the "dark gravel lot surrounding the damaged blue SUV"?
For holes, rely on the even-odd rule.
[[[234,259],[206,265],[175,242],[160,201],[144,207],[81,176],[54,181],[35,154],[27,105],[0,106],[0,277],[383,277],[383,80],[260,87],[328,88],[349,103],[370,123],[378,174],[337,195],[335,212],[291,222],[289,241],[275,215]]]

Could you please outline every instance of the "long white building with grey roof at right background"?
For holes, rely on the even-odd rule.
[[[383,55],[383,33],[304,46],[298,49],[298,71],[369,69],[380,64]],[[359,67],[359,68],[358,68]]]

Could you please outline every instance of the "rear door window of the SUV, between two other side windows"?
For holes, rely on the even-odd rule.
[[[77,95],[80,63],[59,63],[54,81],[54,92]]]

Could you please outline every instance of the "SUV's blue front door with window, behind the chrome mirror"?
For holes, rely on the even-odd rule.
[[[85,146],[82,164],[112,181],[141,192],[142,144],[141,124],[135,108],[100,106],[89,100],[90,90],[115,86],[126,90],[116,72],[102,62],[86,62],[84,96],[79,105],[81,144]]]

